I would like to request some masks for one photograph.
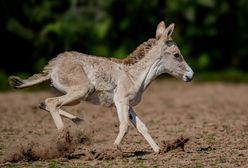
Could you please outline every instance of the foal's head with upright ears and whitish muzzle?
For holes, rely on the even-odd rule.
[[[192,80],[194,72],[184,60],[176,43],[172,40],[171,34],[173,30],[174,24],[169,25],[167,28],[164,22],[158,24],[156,39],[158,45],[161,46],[160,69],[165,73],[181,78],[185,82],[189,82]]]

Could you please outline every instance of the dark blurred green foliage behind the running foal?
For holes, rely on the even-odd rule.
[[[41,71],[65,50],[126,57],[155,36],[161,20],[176,23],[173,38],[196,73],[232,69],[231,79],[248,70],[247,0],[1,0],[0,4],[1,51],[6,53],[1,54],[6,61],[0,62],[0,89],[8,87],[8,75]]]

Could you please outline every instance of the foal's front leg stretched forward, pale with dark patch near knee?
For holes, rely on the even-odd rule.
[[[139,117],[136,115],[136,113],[134,112],[133,108],[131,108],[131,107],[129,109],[129,119],[131,120],[131,122],[133,123],[133,125],[137,128],[137,130],[144,136],[144,138],[150,144],[150,146],[152,147],[152,149],[155,152],[159,152],[159,146],[152,139],[151,135],[148,132],[147,127],[139,119]]]

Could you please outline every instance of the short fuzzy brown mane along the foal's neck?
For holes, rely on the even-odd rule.
[[[145,55],[151,50],[151,48],[156,44],[156,39],[151,38],[142,44],[140,44],[132,53],[130,53],[127,58],[116,59],[111,58],[112,61],[117,63],[123,63],[126,65],[132,65],[145,57]]]

